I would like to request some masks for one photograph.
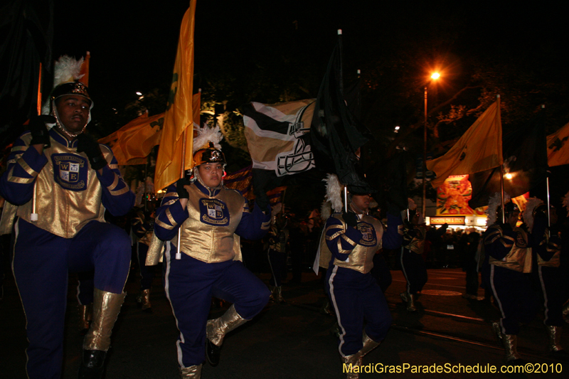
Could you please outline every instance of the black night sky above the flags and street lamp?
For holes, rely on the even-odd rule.
[[[297,65],[309,68],[302,74],[314,77],[307,90],[315,97],[338,28],[344,30],[344,64],[350,73],[381,59],[382,50],[391,52],[394,45],[412,46],[415,41],[427,40],[429,46],[419,47],[432,52],[433,62],[439,60],[455,71],[443,89],[448,93],[463,85],[461,66],[469,58],[507,51],[523,60],[546,50],[555,59],[543,67],[543,75],[567,79],[568,33],[563,31],[563,9],[546,6],[547,2],[539,7],[426,3],[198,1],[196,88],[208,86],[212,65],[222,77],[224,73],[252,76],[255,65],[282,60],[282,51],[292,48],[302,55],[297,57]],[[94,112],[100,107],[120,107],[134,100],[137,91],[168,85],[188,1],[91,1],[74,4],[73,10],[68,4],[55,0],[53,57],[64,53],[80,56],[90,50]],[[435,65],[433,62],[425,62],[425,70]],[[282,75],[282,70],[275,64],[275,75]],[[291,75],[294,73],[292,70]],[[252,100],[267,100],[262,94],[256,96]],[[243,98],[250,100],[247,95]]]

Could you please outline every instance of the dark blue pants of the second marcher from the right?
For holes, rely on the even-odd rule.
[[[502,314],[502,333],[517,335],[520,323],[528,324],[538,312],[538,299],[528,274],[490,265],[490,282]]]

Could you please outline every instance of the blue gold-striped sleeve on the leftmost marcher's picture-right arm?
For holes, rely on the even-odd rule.
[[[102,168],[102,174],[95,171],[102,186],[102,205],[114,216],[126,215],[134,206],[134,193],[120,176],[117,159],[108,146],[100,145],[101,150],[110,151],[111,163]]]

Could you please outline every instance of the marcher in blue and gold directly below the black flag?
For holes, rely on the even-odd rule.
[[[330,255],[326,271],[329,294],[340,327],[339,352],[352,368],[383,341],[391,326],[391,314],[376,279],[371,275],[373,257],[381,249],[383,225],[368,215],[369,194],[351,193],[349,212],[334,213],[324,230],[326,246],[321,254]],[[330,254],[331,253],[331,254]],[[366,329],[363,329],[363,320]],[[363,336],[362,336],[363,331]],[[347,378],[358,378],[348,372]]]

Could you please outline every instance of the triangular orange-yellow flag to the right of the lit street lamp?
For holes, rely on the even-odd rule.
[[[500,166],[502,159],[502,124],[500,100],[484,112],[468,128],[447,154],[427,161],[427,169],[435,171],[434,188],[450,175],[466,175]]]

